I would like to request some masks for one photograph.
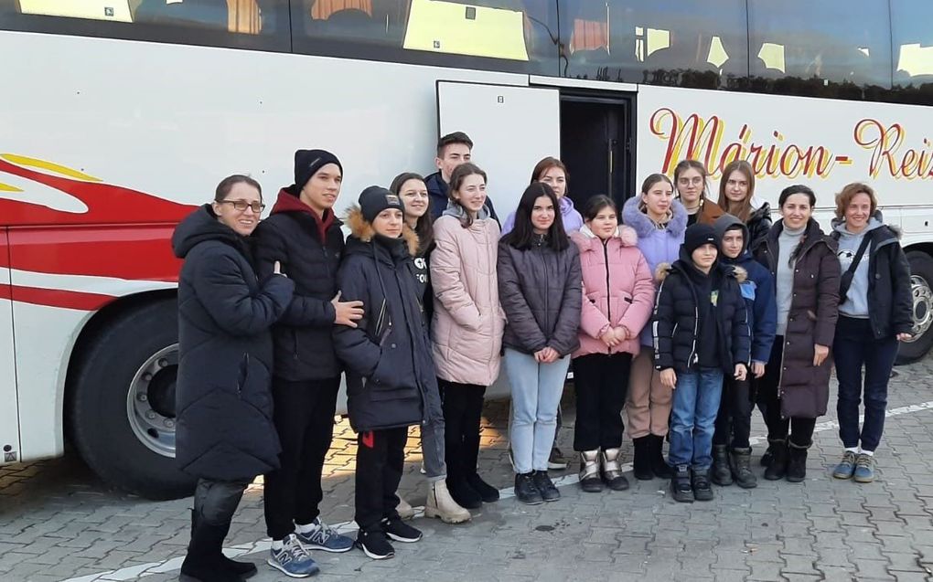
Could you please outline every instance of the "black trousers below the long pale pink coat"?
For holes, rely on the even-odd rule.
[[[438,379],[444,409],[444,454],[447,480],[466,480],[480,462],[480,421],[486,386]]]

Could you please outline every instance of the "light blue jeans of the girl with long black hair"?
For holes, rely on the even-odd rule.
[[[519,473],[547,471],[550,447],[557,431],[557,407],[564,393],[570,357],[540,364],[530,354],[506,348],[504,359],[512,386],[509,439]]]

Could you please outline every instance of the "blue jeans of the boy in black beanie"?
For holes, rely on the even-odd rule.
[[[672,467],[691,466],[705,471],[713,465],[713,432],[721,396],[721,370],[677,372],[668,454]]]

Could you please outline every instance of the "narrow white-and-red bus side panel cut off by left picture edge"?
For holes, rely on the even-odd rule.
[[[19,401],[13,358],[13,294],[7,229],[0,228],[0,465],[20,460]]]

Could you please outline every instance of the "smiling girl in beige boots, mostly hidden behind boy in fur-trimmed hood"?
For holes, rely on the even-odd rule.
[[[401,198],[405,207],[405,224],[418,236],[418,249],[414,253],[415,282],[418,285],[418,301],[421,302],[425,325],[434,312],[434,294],[431,291],[428,262],[434,250],[434,217],[430,211],[430,196],[425,179],[421,174],[405,172],[398,174],[389,186],[389,191]],[[439,398],[439,397],[438,397]],[[445,523],[461,523],[471,519],[469,511],[457,505],[447,491],[447,463],[444,455],[444,419],[425,419],[421,425],[421,448],[425,459],[425,476],[428,482],[425,516],[439,518]],[[414,517],[411,505],[398,497],[398,515],[404,519]]]

